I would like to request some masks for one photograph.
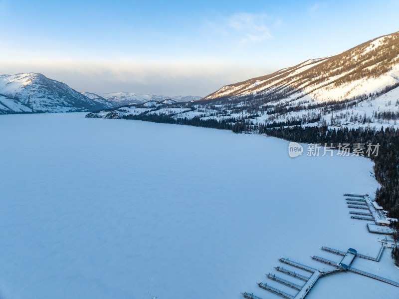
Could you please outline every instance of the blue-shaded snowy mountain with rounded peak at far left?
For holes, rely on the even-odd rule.
[[[0,114],[94,111],[109,107],[42,74],[0,75]]]

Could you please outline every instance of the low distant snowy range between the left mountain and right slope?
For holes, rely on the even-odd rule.
[[[166,96],[166,95],[142,94],[142,93],[133,93],[133,92],[102,93],[99,96],[113,103],[115,107],[123,105],[142,104],[149,101],[163,101],[166,99],[172,99],[176,102],[189,102],[191,100],[200,100],[202,98],[200,96],[192,96],[192,95]]]

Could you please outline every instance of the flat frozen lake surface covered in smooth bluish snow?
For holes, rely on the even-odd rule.
[[[278,258],[322,270],[309,256],[341,258],[323,245],[377,256],[379,236],[343,197],[373,197],[370,160],[293,159],[275,138],[84,115],[0,117],[1,299],[278,299],[256,285],[273,285]],[[388,250],[354,267],[399,280]],[[399,288],[341,273],[307,298]]]

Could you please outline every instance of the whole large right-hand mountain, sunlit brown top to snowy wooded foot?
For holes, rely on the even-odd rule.
[[[143,114],[141,118],[219,128],[242,123],[246,130],[259,125],[399,126],[399,32],[226,85],[201,100],[173,104],[157,113],[157,119]]]

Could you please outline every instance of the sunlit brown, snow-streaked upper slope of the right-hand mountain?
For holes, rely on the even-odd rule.
[[[241,95],[265,100],[283,95],[286,101],[345,100],[376,93],[399,82],[399,32],[352,49],[243,82],[223,86],[203,99]]]

